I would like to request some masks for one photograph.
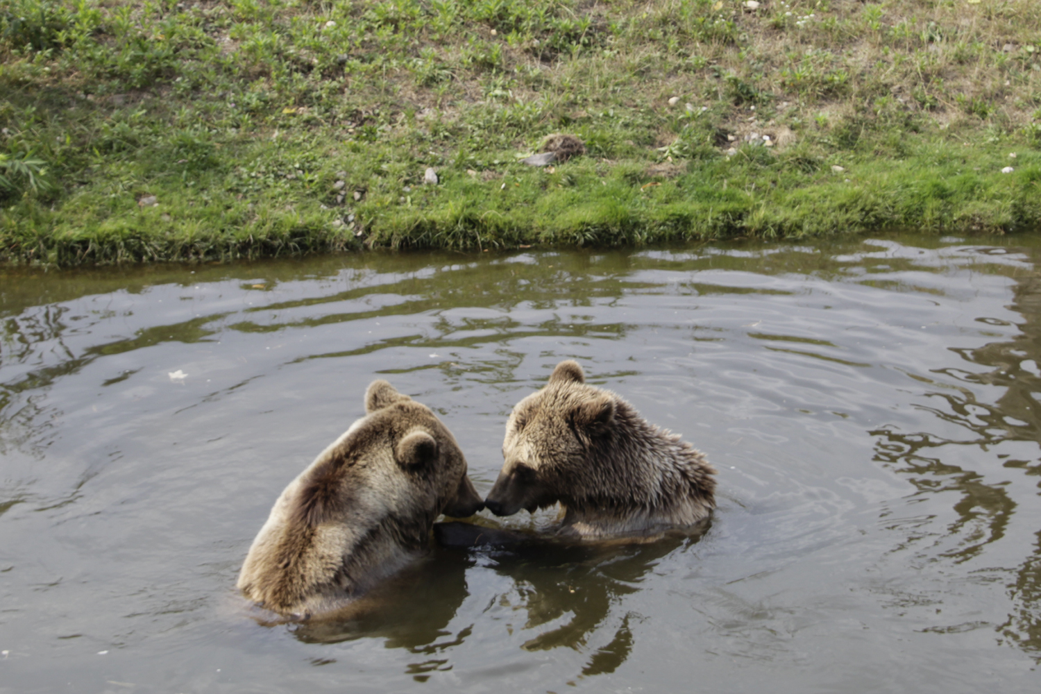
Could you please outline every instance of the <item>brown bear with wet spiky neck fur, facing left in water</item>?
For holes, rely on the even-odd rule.
[[[704,454],[587,385],[570,360],[513,408],[503,456],[485,507],[508,516],[559,502],[565,538],[646,536],[715,508],[715,469]]]

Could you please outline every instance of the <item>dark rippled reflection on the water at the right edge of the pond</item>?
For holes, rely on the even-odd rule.
[[[1000,449],[1004,442],[1041,445],[1041,253],[1037,249],[1022,253],[1030,256],[1032,266],[1025,274],[1014,276],[1013,302],[1008,307],[1022,316],[1018,324],[1020,334],[1010,341],[953,350],[967,362],[987,369],[934,369],[934,374],[966,385],[926,391],[932,404],[919,406],[920,410],[962,428],[968,437],[954,440],[894,429],[869,432],[879,437],[874,460],[908,474],[917,488],[913,496],[948,491],[959,494],[954,505],[958,518],[947,528],[947,537],[957,544],[942,554],[955,562],[977,557],[986,545],[1005,537],[1017,504],[1005,488],[1008,483],[990,484],[985,473],[943,462],[939,457],[941,448],[958,445],[988,452]],[[976,320],[1009,325],[993,317]],[[925,378],[919,380],[937,383]],[[980,386],[1002,388],[1004,392],[993,403],[982,402],[975,394]],[[997,458],[1010,471],[1041,478],[1041,458],[1023,460],[1010,454],[997,454]],[[1041,480],[1037,487],[1041,488]],[[1006,588],[1014,610],[996,629],[1041,662],[1041,532],[1035,538],[1033,552],[1009,570],[1011,581]]]

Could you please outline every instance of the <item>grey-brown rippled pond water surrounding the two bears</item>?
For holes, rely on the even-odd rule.
[[[6,269],[0,692],[1037,691],[1039,261],[885,236]],[[704,536],[439,548],[345,624],[236,595],[370,381],[483,494],[565,358],[716,465]]]

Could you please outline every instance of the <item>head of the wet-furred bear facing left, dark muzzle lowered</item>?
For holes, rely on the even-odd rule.
[[[611,393],[586,385],[578,363],[557,364],[549,384],[513,408],[503,468],[484,505],[508,516],[566,503],[565,494],[596,488],[598,470],[586,461],[594,445],[613,435],[614,416]]]

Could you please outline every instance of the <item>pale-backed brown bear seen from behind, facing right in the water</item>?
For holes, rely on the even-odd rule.
[[[275,502],[238,589],[297,619],[346,606],[424,554],[438,515],[483,508],[452,433],[424,405],[374,381],[365,416]]]

